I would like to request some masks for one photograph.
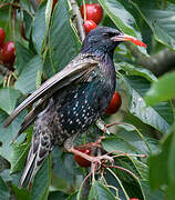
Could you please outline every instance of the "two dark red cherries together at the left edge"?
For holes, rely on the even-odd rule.
[[[0,63],[2,64],[13,64],[16,60],[16,48],[14,42],[4,42],[6,33],[0,27]]]

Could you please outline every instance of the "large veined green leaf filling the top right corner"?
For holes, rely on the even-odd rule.
[[[147,24],[155,39],[175,50],[175,4],[159,4],[158,0],[132,0]]]

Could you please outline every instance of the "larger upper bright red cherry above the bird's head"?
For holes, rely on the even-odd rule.
[[[86,20],[93,20],[99,24],[103,18],[103,8],[99,3],[85,3]],[[81,14],[84,18],[84,7],[81,6]]]

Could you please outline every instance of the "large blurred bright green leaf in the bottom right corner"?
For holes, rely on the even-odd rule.
[[[164,187],[169,200],[175,197],[175,124],[172,132],[164,139],[162,151],[148,159],[150,183],[152,189]]]

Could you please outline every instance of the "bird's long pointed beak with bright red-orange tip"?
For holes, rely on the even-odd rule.
[[[141,40],[137,40],[136,38],[131,37],[128,34],[124,34],[124,33],[113,37],[112,40],[113,41],[131,41],[131,42],[135,43],[136,46],[147,48],[147,46],[144,42],[142,42]]]

